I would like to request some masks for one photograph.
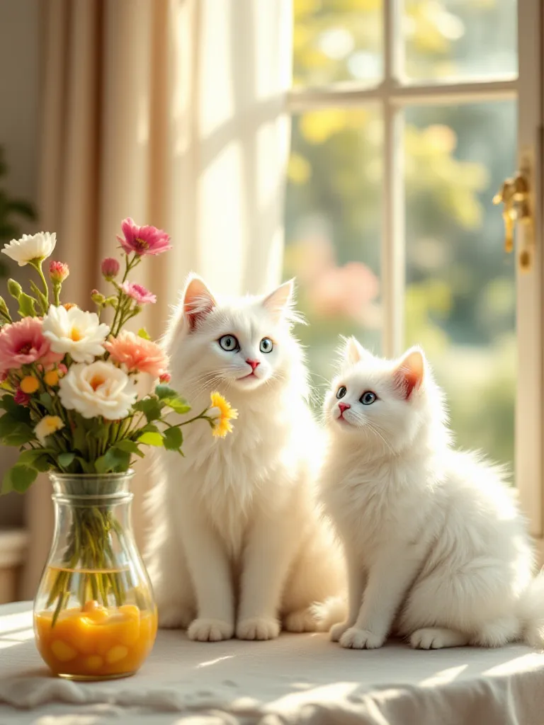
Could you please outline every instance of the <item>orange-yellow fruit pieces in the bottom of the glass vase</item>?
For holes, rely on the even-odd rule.
[[[54,674],[70,679],[110,679],[133,674],[151,651],[157,635],[157,612],[136,605],[83,608],[34,615],[39,653]]]

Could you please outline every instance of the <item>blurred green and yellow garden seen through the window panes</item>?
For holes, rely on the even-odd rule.
[[[516,71],[513,0],[406,0],[405,76]],[[294,0],[294,83],[373,84],[381,0]],[[316,386],[338,334],[379,352],[382,117],[377,105],[292,119],[285,273],[299,280]],[[405,338],[434,365],[463,447],[514,460],[515,273],[491,199],[514,170],[516,106],[489,101],[403,113]],[[316,401],[316,405],[318,402]]]

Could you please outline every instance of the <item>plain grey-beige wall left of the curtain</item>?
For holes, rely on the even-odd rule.
[[[7,190],[36,202],[38,149],[38,53],[40,0],[0,0],[0,145]],[[32,230],[28,230],[32,231]],[[0,281],[2,294],[4,281]],[[15,450],[0,448],[0,480]],[[0,502],[0,527],[22,523],[22,497]]]

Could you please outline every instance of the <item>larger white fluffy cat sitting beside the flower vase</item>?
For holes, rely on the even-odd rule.
[[[311,605],[345,583],[313,500],[320,447],[291,305],[291,282],[220,304],[191,276],[165,337],[172,386],[193,409],[218,390],[239,412],[222,440],[205,422],[184,428],[186,458],[165,452],[150,494],[160,624],[191,639],[271,639],[280,620],[314,631]]]

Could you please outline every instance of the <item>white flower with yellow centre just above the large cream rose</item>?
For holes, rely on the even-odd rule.
[[[104,340],[110,334],[109,326],[100,323],[96,312],[54,305],[49,307],[41,329],[53,352],[68,352],[76,363],[92,363],[95,357],[104,355]]]

